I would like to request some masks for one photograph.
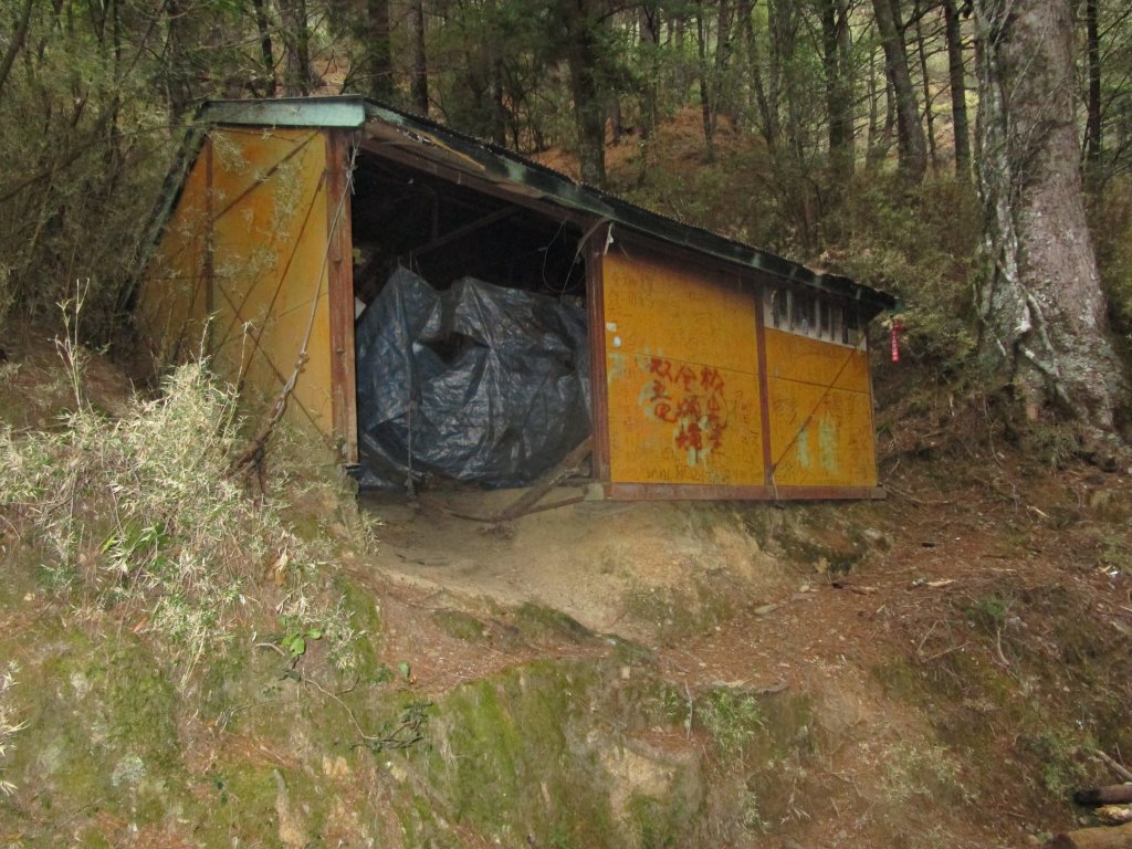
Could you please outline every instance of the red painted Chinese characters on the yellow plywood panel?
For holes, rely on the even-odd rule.
[[[650,375],[642,392],[643,404],[655,419],[676,426],[674,443],[687,452],[689,465],[718,451],[727,430],[724,384],[719,369],[697,369],[662,357],[643,357],[638,365]]]

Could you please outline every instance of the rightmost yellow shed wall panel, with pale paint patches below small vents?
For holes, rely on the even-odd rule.
[[[771,457],[779,487],[875,487],[868,355],[766,329]]]

